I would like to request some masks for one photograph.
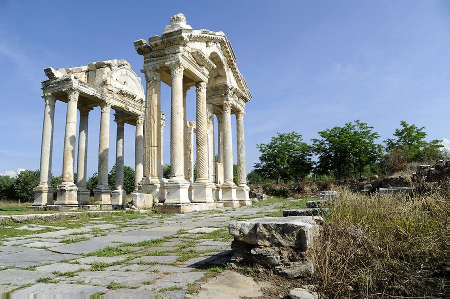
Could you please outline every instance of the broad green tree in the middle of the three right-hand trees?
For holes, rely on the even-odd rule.
[[[381,157],[382,146],[375,142],[379,135],[372,129],[355,120],[342,127],[318,132],[321,138],[312,139],[314,152],[318,155],[316,171],[349,177],[351,171],[362,172],[365,167],[376,163]]]

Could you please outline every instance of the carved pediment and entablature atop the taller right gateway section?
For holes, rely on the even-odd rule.
[[[231,43],[221,31],[193,30],[179,13],[170,18],[161,35],[151,36],[148,43],[134,42],[138,54],[144,56],[144,69],[158,67],[161,81],[170,85],[168,66],[180,63],[184,67],[183,84],[194,86],[207,82],[207,101],[219,105],[231,102],[233,110],[243,110],[251,93],[236,65]]]

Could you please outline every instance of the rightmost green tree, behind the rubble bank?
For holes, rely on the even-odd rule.
[[[425,141],[425,127],[410,125],[400,121],[401,128],[395,129],[395,138],[384,140],[386,153],[391,154],[398,150],[404,154],[406,162],[435,162],[444,157],[442,140]]]

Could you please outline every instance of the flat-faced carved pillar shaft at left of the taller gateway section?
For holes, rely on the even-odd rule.
[[[144,69],[146,100],[144,119],[144,174],[146,183],[160,183],[161,172],[161,74],[159,68]]]

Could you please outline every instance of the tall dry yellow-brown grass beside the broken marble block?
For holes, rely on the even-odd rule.
[[[326,298],[440,298],[445,291],[446,195],[405,199],[340,190],[314,245]]]

